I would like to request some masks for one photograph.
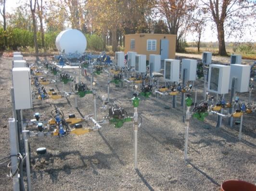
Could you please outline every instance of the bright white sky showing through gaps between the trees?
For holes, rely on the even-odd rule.
[[[16,7],[19,6],[21,0],[6,0],[6,12],[13,12],[15,10]],[[24,0],[23,0],[24,1]],[[28,0],[26,0],[27,2],[29,2]],[[256,42],[256,27],[251,28],[250,30],[246,30],[245,35],[242,39],[242,41],[247,42],[247,41],[251,41],[251,42]],[[192,42],[195,41],[195,36],[193,36],[192,34],[188,34],[186,36],[186,40],[188,42]],[[239,39],[241,41],[241,39]],[[236,42],[239,41],[236,37],[228,37],[225,36],[225,41],[226,42]],[[216,31],[212,31],[211,29],[211,23],[207,24],[206,28],[205,28],[205,32],[201,38],[202,42],[217,42],[218,38],[217,38],[217,32]]]

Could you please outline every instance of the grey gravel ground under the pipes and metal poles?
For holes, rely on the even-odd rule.
[[[26,57],[34,62],[34,57]],[[47,59],[47,58],[40,58]],[[0,57],[0,158],[9,155],[8,118],[12,117],[10,86],[12,84],[11,58]],[[40,62],[39,62],[40,65]],[[77,70],[69,71],[75,75]],[[45,76],[51,80],[51,74]],[[90,81],[81,78],[88,86]],[[107,95],[107,74],[95,77],[97,95]],[[163,79],[160,79],[163,83]],[[256,85],[256,84],[255,84]],[[124,85],[126,86],[126,85]],[[45,86],[63,89],[57,83]],[[195,82],[198,99],[203,97],[203,79]],[[64,86],[68,91],[69,85]],[[193,95],[193,94],[192,94]],[[129,115],[133,115],[130,101],[132,90],[110,87],[110,102],[117,101]],[[194,95],[193,95],[194,96]],[[248,93],[238,94],[247,100]],[[256,92],[252,99],[256,101]],[[100,131],[84,135],[70,134],[63,138],[31,138],[31,177],[33,190],[79,191],[79,190],[138,190],[138,191],[218,191],[227,179],[242,179],[256,183],[256,115],[244,115],[242,140],[238,140],[239,126],[228,126],[223,119],[221,128],[216,128],[217,116],[208,116],[205,121],[192,119],[189,129],[188,162],[184,161],[185,124],[182,123],[180,95],[177,108],[171,106],[172,98],[162,96],[157,99],[141,98],[138,108],[142,126],[138,131],[138,170],[133,168],[133,123],[127,122],[116,129],[114,125],[104,125]],[[228,96],[226,96],[228,97]],[[93,113],[92,95],[77,99],[33,101],[33,109],[24,110],[26,119],[33,118],[35,112],[41,119],[49,119],[51,110],[59,107],[64,115],[74,113],[77,117]],[[97,106],[102,102],[98,99]],[[98,119],[107,114],[97,109]],[[92,127],[84,121],[84,127]],[[29,127],[28,130],[36,130]],[[46,147],[47,154],[39,156],[38,147]],[[9,169],[0,165],[0,190],[12,190],[12,180],[6,177]],[[26,172],[25,172],[26,173]]]

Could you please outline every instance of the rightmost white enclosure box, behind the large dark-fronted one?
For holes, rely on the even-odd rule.
[[[242,64],[230,65],[230,89],[232,79],[235,78],[235,92],[248,92],[250,82],[251,67]]]

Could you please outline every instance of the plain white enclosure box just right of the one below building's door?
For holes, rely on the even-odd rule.
[[[195,81],[196,79],[196,68],[197,68],[197,60],[191,59],[182,59],[181,64],[181,78],[183,79],[183,71],[185,72],[185,82]]]

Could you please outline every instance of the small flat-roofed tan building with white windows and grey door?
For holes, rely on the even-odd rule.
[[[161,60],[175,59],[176,35],[131,34],[125,35],[125,53],[128,51],[147,55],[161,54]]]

